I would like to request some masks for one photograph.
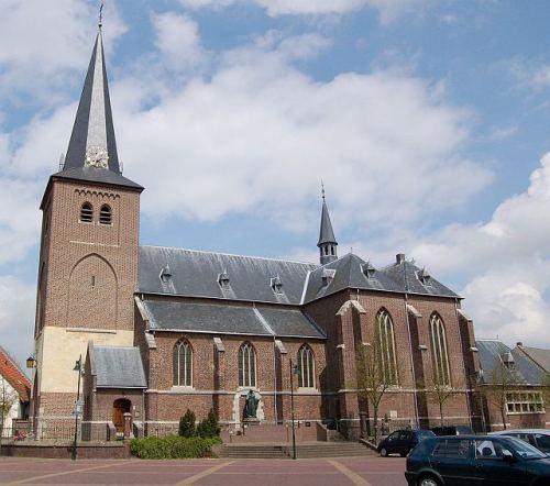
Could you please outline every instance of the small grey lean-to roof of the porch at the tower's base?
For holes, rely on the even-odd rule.
[[[98,388],[146,388],[145,373],[138,347],[94,346]]]

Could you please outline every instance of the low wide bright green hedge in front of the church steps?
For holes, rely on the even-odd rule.
[[[140,459],[213,457],[211,448],[216,443],[219,443],[219,439],[178,435],[147,437],[133,439],[130,443],[130,451]]]

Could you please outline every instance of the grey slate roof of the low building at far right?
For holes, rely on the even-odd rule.
[[[506,344],[497,340],[475,341],[475,347],[477,347],[480,365],[483,369],[482,382],[484,384],[491,384],[493,371],[503,364],[502,360],[507,353],[512,354],[515,362],[515,371],[509,372],[509,375],[514,374],[515,379],[520,384],[541,384],[543,377],[542,371],[527,358],[524,353],[519,352],[517,347],[510,350]]]

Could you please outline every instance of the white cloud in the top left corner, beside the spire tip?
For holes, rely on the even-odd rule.
[[[97,7],[81,0],[4,0],[0,29],[0,99],[12,96],[20,102],[40,99],[58,101],[73,69],[89,59],[90,40],[97,25]],[[124,31],[114,7],[107,5],[106,44]],[[37,82],[40,80],[40,82]]]

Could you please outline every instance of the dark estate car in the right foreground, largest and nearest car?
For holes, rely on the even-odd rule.
[[[409,486],[543,486],[550,456],[509,437],[440,437],[411,451],[405,477]]]

